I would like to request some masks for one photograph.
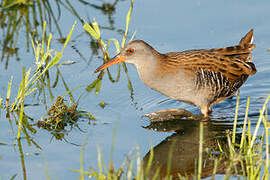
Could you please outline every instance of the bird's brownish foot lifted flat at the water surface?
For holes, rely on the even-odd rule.
[[[166,109],[145,114],[143,116],[148,117],[151,122],[170,121],[182,118],[201,120],[204,118],[201,114],[193,114],[185,109]]]

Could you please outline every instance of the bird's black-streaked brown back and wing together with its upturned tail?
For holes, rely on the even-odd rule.
[[[167,53],[163,58],[166,63],[163,64],[175,69],[181,67],[187,73],[201,70],[220,72],[230,82],[235,82],[242,75],[256,73],[255,65],[251,62],[251,51],[256,46],[252,41],[253,29],[240,40],[237,46]]]

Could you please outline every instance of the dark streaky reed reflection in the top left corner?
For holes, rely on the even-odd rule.
[[[1,61],[6,59],[5,68],[8,67],[9,58],[14,54],[17,55],[19,36],[23,35],[26,37],[25,47],[27,47],[27,51],[29,51],[31,44],[30,37],[34,41],[40,40],[39,32],[42,31],[38,29],[42,28],[45,21],[50,22],[51,27],[53,20],[60,37],[62,37],[57,18],[48,1],[17,1],[17,3],[13,1],[3,1],[1,6],[0,24],[4,37],[3,41],[1,41],[3,47]],[[26,31],[26,34],[22,34],[21,31]],[[17,60],[19,60],[18,57]]]

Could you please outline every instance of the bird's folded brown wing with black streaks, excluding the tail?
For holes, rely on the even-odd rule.
[[[256,68],[251,62],[244,62],[238,58],[227,57],[214,52],[204,50],[191,50],[184,52],[173,52],[165,54],[167,66],[171,68],[182,68],[187,73],[194,73],[201,70],[220,72],[230,82],[234,82],[241,75],[256,73]]]

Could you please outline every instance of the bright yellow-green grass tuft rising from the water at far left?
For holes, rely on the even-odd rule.
[[[32,41],[35,56],[36,56],[37,69],[36,69],[36,72],[31,76],[31,68],[29,68],[27,72],[25,70],[25,67],[23,68],[20,87],[18,89],[17,96],[12,103],[10,103],[11,101],[10,94],[11,94],[11,86],[12,86],[12,79],[13,79],[11,77],[11,80],[8,83],[8,91],[7,91],[7,97],[6,97],[6,109],[7,109],[6,116],[8,118],[12,116],[16,120],[16,117],[13,115],[13,112],[16,112],[18,114],[19,120],[16,121],[18,123],[17,139],[20,139],[22,130],[26,135],[27,135],[26,129],[30,130],[31,132],[34,131],[32,126],[29,125],[27,121],[28,118],[24,113],[25,98],[37,90],[37,88],[34,87],[34,85],[36,85],[36,83],[45,75],[45,73],[48,72],[48,70],[51,67],[57,65],[59,60],[62,58],[63,50],[71,37],[74,26],[75,24],[73,25],[61,52],[53,51],[50,49],[50,40],[52,38],[51,34],[49,35],[49,39],[47,43],[48,46],[47,46],[46,52],[44,51],[44,48],[45,48],[44,39],[42,40],[42,44],[41,45],[38,44],[37,47],[35,47],[34,42]],[[45,28],[46,28],[46,23],[44,23],[43,34],[45,34]],[[53,52],[54,52],[54,55],[52,54]]]

